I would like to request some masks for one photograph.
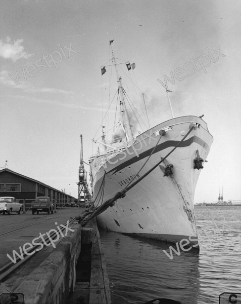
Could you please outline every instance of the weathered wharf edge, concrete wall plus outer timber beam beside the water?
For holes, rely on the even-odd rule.
[[[70,225],[74,232],[56,242],[56,248],[44,247],[23,263],[0,284],[0,294],[24,294],[25,304],[69,304],[81,298],[86,304],[111,304],[106,261],[95,219],[84,227]],[[90,244],[90,280],[76,282],[76,265],[81,249]]]

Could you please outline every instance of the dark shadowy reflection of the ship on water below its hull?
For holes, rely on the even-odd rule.
[[[145,303],[170,298],[197,303],[199,293],[199,251],[173,253],[165,242],[100,231],[115,304]],[[174,248],[175,245],[173,245]]]

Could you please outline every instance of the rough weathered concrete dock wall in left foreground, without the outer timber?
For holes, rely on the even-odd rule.
[[[4,286],[11,288],[16,280],[21,281],[17,288],[10,290],[14,293],[23,293],[25,304],[67,302],[69,292],[75,285],[75,265],[81,250],[81,226],[76,224],[71,226],[71,229],[75,232],[69,232],[58,245],[56,243],[57,247],[37,267],[35,267],[36,260],[33,265],[31,258],[25,263],[23,270],[18,269],[16,275],[13,274],[4,282]],[[46,249],[51,250],[50,247]],[[37,254],[44,254],[44,250]],[[30,273],[25,277],[26,271]]]

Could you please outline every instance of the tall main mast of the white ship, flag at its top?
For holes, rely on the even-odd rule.
[[[110,46],[111,46],[111,41],[110,41]],[[120,106],[121,106],[121,113],[122,113],[122,119],[123,119],[123,127],[124,127],[124,130],[125,130],[126,143],[127,143],[127,142],[129,142],[133,139],[133,135],[132,135],[132,131],[131,131],[131,128],[130,128],[129,116],[128,116],[125,101],[124,101],[124,94],[123,94],[123,87],[122,87],[121,77],[119,77],[117,64],[116,64],[116,59],[115,59],[112,47],[111,47],[111,52],[112,52],[113,62],[114,62],[115,69],[116,69],[118,92],[120,93]]]

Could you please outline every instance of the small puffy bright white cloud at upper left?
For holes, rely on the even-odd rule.
[[[16,62],[20,58],[27,59],[34,54],[27,54],[24,52],[24,46],[22,46],[23,39],[18,39],[11,43],[10,37],[7,37],[7,43],[0,40],[0,56],[5,59],[11,59]]]

